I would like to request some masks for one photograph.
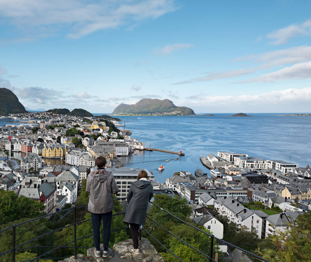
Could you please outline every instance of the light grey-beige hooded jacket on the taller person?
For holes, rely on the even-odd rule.
[[[112,194],[118,193],[118,186],[111,172],[104,168],[95,169],[86,179],[86,192],[90,193],[87,210],[103,214],[114,209]]]

